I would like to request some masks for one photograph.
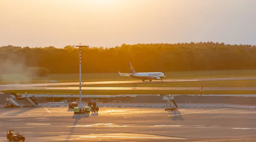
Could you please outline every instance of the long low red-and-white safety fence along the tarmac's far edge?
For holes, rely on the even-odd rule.
[[[82,103],[87,106],[87,103]],[[96,103],[99,107],[167,107],[168,103]],[[38,103],[38,106],[68,106],[68,103]],[[256,105],[220,104],[220,103],[177,103],[178,107],[233,107],[256,109]]]

